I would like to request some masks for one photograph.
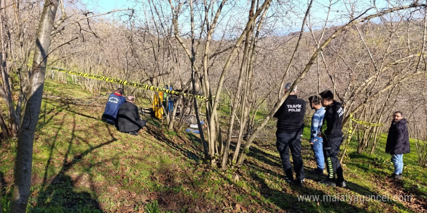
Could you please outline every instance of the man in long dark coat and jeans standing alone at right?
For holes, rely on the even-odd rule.
[[[385,152],[392,155],[392,162],[394,164],[392,178],[398,180],[402,179],[403,154],[411,152],[408,126],[406,124],[407,121],[403,118],[403,113],[401,111],[394,112],[392,125],[390,126],[385,145]]]

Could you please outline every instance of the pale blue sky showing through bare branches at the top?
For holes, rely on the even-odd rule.
[[[148,0],[142,0],[142,2],[147,2]],[[164,2],[166,4],[167,0],[154,0],[158,2]],[[196,0],[195,0],[196,1]],[[217,0],[220,1],[220,0]],[[371,5],[374,0],[335,0],[332,4],[332,10],[330,12],[330,15],[328,17],[328,27],[336,26],[336,25],[342,25],[346,22],[348,22],[349,17],[348,15],[348,2],[355,1],[356,2],[356,8],[354,9],[356,11],[356,14],[361,14],[364,12],[368,5]],[[388,8],[390,5],[387,3],[386,0],[375,0],[378,8]],[[410,0],[394,0],[395,2],[400,2],[402,5],[409,4]],[[142,2],[139,0],[138,3],[135,2],[135,0],[81,0],[83,4],[86,5],[86,9],[88,11],[92,11],[95,13],[105,13],[111,10],[115,9],[127,9],[127,8],[134,8],[135,13],[140,13],[140,11],[146,9],[141,8]],[[237,3],[235,3],[237,2]],[[232,22],[240,22],[243,19],[242,13],[238,10],[246,10],[248,6],[246,6],[250,1],[249,0],[229,0],[228,4],[232,8],[232,11],[229,15],[231,17]],[[277,16],[277,20],[274,22],[274,28],[277,30],[278,35],[287,34],[289,32],[293,31],[299,31],[301,28],[301,22],[302,17],[304,15],[305,10],[307,10],[308,0],[300,0],[301,3],[299,4],[293,4],[291,5],[287,0],[273,0],[273,2],[281,2],[280,5],[277,4],[275,8],[275,12],[273,12],[273,9],[269,10],[268,15],[275,15]],[[314,0],[312,9],[311,9],[311,23],[313,25],[313,29],[321,29],[324,25],[324,20],[327,16],[327,7],[329,5],[329,0]],[[272,6],[273,7],[273,6]],[[279,8],[282,7],[282,8]],[[278,9],[279,8],[279,9]],[[280,14],[280,11],[287,12],[289,11],[289,8],[292,8],[293,11],[296,11],[295,13],[288,13],[288,14]],[[139,11],[139,12],[138,12]],[[224,11],[224,9],[223,9]],[[238,11],[238,12],[236,12]],[[278,12],[279,11],[279,12]],[[276,13],[276,14],[274,14]],[[376,13],[375,9],[371,9],[367,14],[374,14]],[[142,15],[141,15],[142,16]],[[246,12],[245,12],[246,16]],[[376,22],[376,20],[373,20]],[[378,20],[377,20],[378,21]],[[292,24],[290,24],[292,23]],[[188,26],[187,26],[188,25]],[[219,25],[219,24],[218,24]],[[189,30],[189,23],[182,22],[183,29]]]

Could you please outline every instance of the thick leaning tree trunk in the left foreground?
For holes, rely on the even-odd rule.
[[[58,9],[58,1],[45,1],[37,30],[33,67],[31,68],[30,84],[26,95],[28,101],[25,105],[21,129],[18,134],[15,186],[11,203],[12,213],[25,213],[30,195],[34,132],[40,114],[50,34]]]

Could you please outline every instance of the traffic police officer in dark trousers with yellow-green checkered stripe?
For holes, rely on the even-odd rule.
[[[325,157],[328,170],[328,179],[320,183],[328,186],[345,187],[343,168],[338,159],[340,146],[343,142],[342,123],[344,117],[343,106],[335,101],[330,90],[320,92],[322,106],[325,107],[325,117],[323,119],[323,155]],[[326,127],[326,129],[325,129]],[[335,175],[337,176],[335,179]]]

